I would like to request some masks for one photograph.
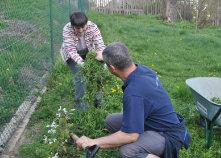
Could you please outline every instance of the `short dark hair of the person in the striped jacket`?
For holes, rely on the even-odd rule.
[[[73,27],[84,27],[88,18],[83,12],[73,12],[70,16],[70,22]]]

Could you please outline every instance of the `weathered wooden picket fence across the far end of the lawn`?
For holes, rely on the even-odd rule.
[[[168,4],[169,3],[169,4]],[[220,0],[89,0],[89,10],[105,13],[152,14],[167,17],[167,6],[175,20],[221,25]]]

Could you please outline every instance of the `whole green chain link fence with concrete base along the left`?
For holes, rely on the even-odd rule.
[[[0,1],[0,148],[40,94],[78,6],[83,11],[70,0]]]

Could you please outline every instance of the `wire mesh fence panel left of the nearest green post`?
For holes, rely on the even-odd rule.
[[[1,128],[51,68],[47,10],[45,2],[0,1]]]

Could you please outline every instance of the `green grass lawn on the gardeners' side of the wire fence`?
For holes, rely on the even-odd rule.
[[[185,117],[192,135],[190,148],[183,149],[180,157],[220,158],[220,129],[215,130],[213,146],[205,149],[204,129],[197,125],[199,114],[185,80],[196,76],[221,77],[221,28],[196,31],[191,23],[168,24],[142,15],[89,13],[88,16],[101,29],[106,44],[114,41],[125,43],[136,63],[149,66],[158,73],[175,110]],[[122,93],[113,91],[121,84],[113,77],[104,86],[105,103],[102,107],[92,107],[86,112],[75,110],[68,123],[70,129],[78,135],[92,138],[106,135],[103,120],[108,113],[121,110]],[[52,146],[44,144],[43,136],[47,135],[46,125],[54,120],[59,106],[73,108],[72,75],[61,60],[57,60],[47,93],[29,123],[26,133],[29,143],[20,148],[23,158],[45,158],[51,156],[51,152],[55,153]],[[67,146],[67,150],[76,157],[84,154],[70,144]],[[118,153],[115,149],[102,149],[97,157],[115,158]]]

